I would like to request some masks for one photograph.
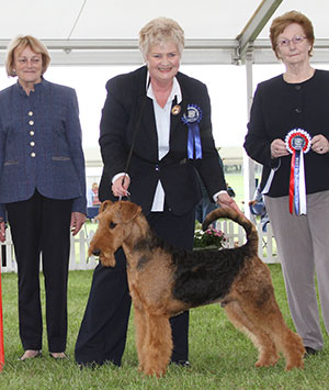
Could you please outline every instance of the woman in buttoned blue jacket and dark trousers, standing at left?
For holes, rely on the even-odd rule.
[[[48,349],[64,358],[70,229],[86,220],[86,176],[73,89],[46,81],[50,62],[35,37],[19,36],[7,56],[18,82],[0,92],[0,239],[8,221],[19,274],[21,360],[41,356],[39,257]]]

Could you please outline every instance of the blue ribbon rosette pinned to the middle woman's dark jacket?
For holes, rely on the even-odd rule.
[[[202,120],[201,108],[196,104],[188,104],[186,112],[182,116],[183,123],[189,127],[188,157],[190,159],[202,158],[202,145],[198,123]],[[194,157],[195,156],[195,157]]]

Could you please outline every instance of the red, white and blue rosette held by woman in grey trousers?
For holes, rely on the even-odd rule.
[[[290,178],[290,213],[306,214],[306,185],[304,154],[310,148],[310,135],[302,129],[294,129],[285,137],[287,151],[292,154]]]

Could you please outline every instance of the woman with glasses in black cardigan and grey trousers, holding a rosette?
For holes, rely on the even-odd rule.
[[[270,36],[285,73],[258,86],[245,148],[263,165],[290,310],[307,353],[315,354],[324,346],[315,272],[329,332],[329,73],[309,64],[315,38],[302,13],[276,18]]]

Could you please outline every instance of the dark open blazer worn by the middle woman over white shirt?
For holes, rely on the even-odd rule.
[[[140,204],[147,214],[160,180],[168,207],[174,214],[181,215],[193,210],[202,197],[196,170],[209,197],[226,189],[212,133],[207,88],[201,81],[178,73],[177,79],[182,91],[181,111],[171,114],[169,153],[159,160],[154,103],[146,96],[146,78],[147,68],[144,66],[129,74],[116,76],[106,85],[107,98],[102,111],[100,136],[104,163],[100,199],[117,199],[113,198],[111,180],[114,175],[125,170],[138,125],[128,168],[132,200]],[[188,158],[188,126],[182,121],[188,104],[196,104],[202,110],[202,159]]]

